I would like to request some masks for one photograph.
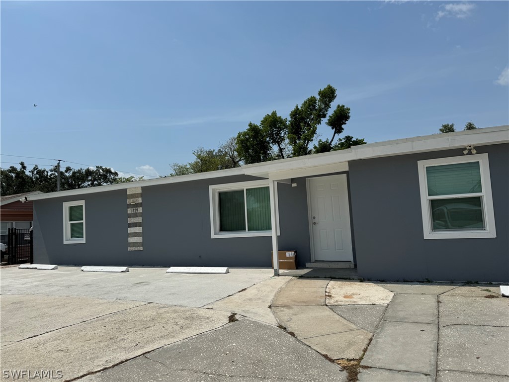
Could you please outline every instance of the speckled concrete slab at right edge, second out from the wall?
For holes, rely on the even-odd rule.
[[[509,298],[443,295],[439,299],[440,326],[509,326]]]

